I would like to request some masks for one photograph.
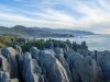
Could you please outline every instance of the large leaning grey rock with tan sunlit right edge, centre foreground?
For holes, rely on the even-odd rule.
[[[69,82],[66,70],[55,58],[55,52],[53,50],[41,51],[40,60],[46,70],[48,82]]]

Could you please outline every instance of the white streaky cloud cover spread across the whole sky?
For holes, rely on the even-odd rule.
[[[25,1],[25,0],[15,0],[15,1]],[[46,26],[46,27],[69,27],[69,28],[80,28],[80,30],[92,30],[94,32],[101,33],[102,31],[107,31],[110,27],[110,8],[109,2],[107,0],[92,0],[87,1],[85,3],[82,0],[43,0],[37,3],[33,0],[33,2],[28,3],[29,10],[15,8],[13,11],[8,9],[7,7],[2,7],[3,10],[9,11],[0,11],[0,20],[9,21],[9,23],[13,24],[22,24],[22,25],[31,25],[31,26]],[[38,1],[38,0],[37,0]],[[86,0],[85,0],[86,1]],[[97,1],[95,3],[94,1]],[[43,2],[43,3],[42,3]],[[90,4],[91,2],[91,4]],[[94,2],[94,3],[92,3]],[[70,8],[73,13],[68,14],[67,9],[55,9],[58,3],[64,3],[64,5]],[[26,3],[25,3],[26,4]],[[24,5],[25,5],[24,4]],[[47,7],[43,5],[46,4]],[[33,7],[33,11],[31,11],[31,5]],[[53,5],[55,8],[53,8]],[[41,10],[37,10],[40,8]],[[16,11],[20,13],[15,13]],[[70,12],[72,12],[70,11]],[[82,14],[80,17],[76,17],[74,12]],[[14,12],[14,13],[13,13]],[[11,22],[10,22],[11,21]],[[92,28],[91,28],[92,27]],[[106,28],[105,28],[106,27]],[[95,28],[95,30],[94,30]]]

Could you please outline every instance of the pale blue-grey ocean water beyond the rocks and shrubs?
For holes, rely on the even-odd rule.
[[[51,37],[48,37],[51,38]],[[44,38],[44,39],[48,39]],[[89,50],[110,50],[110,35],[87,35],[87,36],[77,36],[70,38],[54,38],[58,40],[69,39],[70,42],[76,42],[80,44],[81,42],[86,42]]]

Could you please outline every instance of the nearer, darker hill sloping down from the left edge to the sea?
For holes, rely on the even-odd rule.
[[[73,37],[72,34],[59,34],[46,31],[43,28],[33,28],[25,27],[22,25],[15,25],[13,27],[0,26],[0,34],[12,34],[12,35],[22,35],[26,37]]]

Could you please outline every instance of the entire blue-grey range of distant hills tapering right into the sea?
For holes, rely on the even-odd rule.
[[[25,27],[15,25],[13,27],[0,26],[0,34],[13,34],[28,37],[74,37],[79,35],[94,35],[91,32],[73,30],[53,30],[46,27]]]

